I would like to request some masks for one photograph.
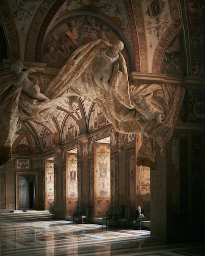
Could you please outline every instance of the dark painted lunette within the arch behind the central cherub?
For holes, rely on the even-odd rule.
[[[98,39],[108,43],[113,43],[116,39],[123,41],[125,44],[123,55],[127,68],[129,71],[135,70],[133,45],[113,22],[101,14],[92,12],[71,13],[49,27],[41,45],[41,56],[39,56],[39,46],[35,58],[36,61],[47,63],[48,67],[60,68],[78,47]]]

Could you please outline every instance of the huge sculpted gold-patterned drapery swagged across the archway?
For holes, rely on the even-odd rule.
[[[176,85],[129,84],[126,63],[119,53],[120,57],[113,65],[107,94],[106,90],[95,83],[94,74],[101,62],[101,51],[107,52],[108,49],[110,44],[103,40],[79,47],[43,92],[50,99],[46,102],[30,98],[22,91],[21,86],[11,86],[15,75],[9,72],[1,74],[0,128],[6,131],[0,137],[1,164],[10,158],[19,117],[46,121],[54,115],[60,99],[88,96],[100,107],[103,115],[118,132],[143,133],[137,164],[156,168],[155,143],[163,153],[172,136],[185,89]],[[147,110],[144,109],[146,104],[149,105]],[[156,115],[160,116],[161,123],[154,118]]]

